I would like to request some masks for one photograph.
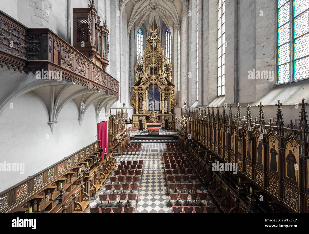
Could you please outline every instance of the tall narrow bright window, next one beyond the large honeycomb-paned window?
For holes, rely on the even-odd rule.
[[[218,0],[218,96],[225,94],[225,0]]]

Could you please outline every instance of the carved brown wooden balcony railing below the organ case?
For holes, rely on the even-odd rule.
[[[27,28],[0,10],[0,67],[14,71],[61,71],[62,79],[118,97],[119,82],[58,35]],[[51,78],[52,79],[52,78]]]

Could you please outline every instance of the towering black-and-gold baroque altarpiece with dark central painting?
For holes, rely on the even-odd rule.
[[[171,76],[172,64],[164,56],[158,29],[149,31],[143,56],[138,56],[134,67],[136,79],[131,98],[131,105],[135,109],[135,114],[132,115],[133,127],[143,130],[146,122],[156,120],[155,122],[162,122],[165,129],[175,129],[173,108],[177,100]]]

